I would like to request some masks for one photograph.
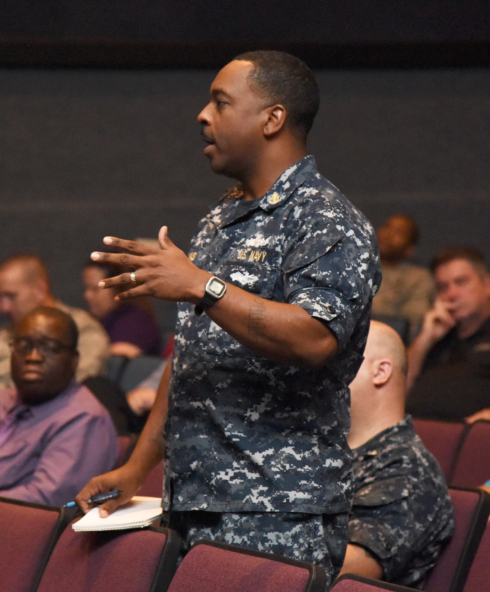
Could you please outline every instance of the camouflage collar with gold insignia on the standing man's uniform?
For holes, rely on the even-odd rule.
[[[219,228],[228,226],[235,220],[238,220],[238,218],[241,218],[242,215],[247,215],[258,208],[261,208],[266,212],[275,210],[275,208],[278,208],[289,199],[292,192],[294,192],[299,185],[302,185],[308,178],[317,173],[317,165],[312,155],[305,156],[301,160],[298,160],[298,162],[282,173],[265,195],[254,200],[254,205],[250,207],[250,210],[247,210],[246,214],[236,214],[236,200],[239,200],[243,195],[241,186],[238,184],[233,188],[228,189],[220,200],[223,202],[224,207]]]

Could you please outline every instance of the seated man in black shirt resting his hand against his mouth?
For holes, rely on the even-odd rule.
[[[490,276],[481,253],[443,250],[431,265],[437,298],[408,349],[407,409],[439,420],[487,419],[490,407]],[[475,415],[476,414],[476,415]]]

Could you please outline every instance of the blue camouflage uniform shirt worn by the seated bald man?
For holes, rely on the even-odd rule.
[[[386,581],[418,588],[454,532],[443,472],[410,416],[353,453],[347,540],[369,549]]]

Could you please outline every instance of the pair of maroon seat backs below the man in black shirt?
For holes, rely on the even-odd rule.
[[[490,422],[414,419],[414,426],[439,461],[447,484],[473,488],[490,479]]]

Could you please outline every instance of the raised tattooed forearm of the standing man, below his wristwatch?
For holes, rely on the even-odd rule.
[[[231,284],[207,314],[238,342],[268,359],[319,367],[337,352],[333,333],[303,308],[265,300]]]

